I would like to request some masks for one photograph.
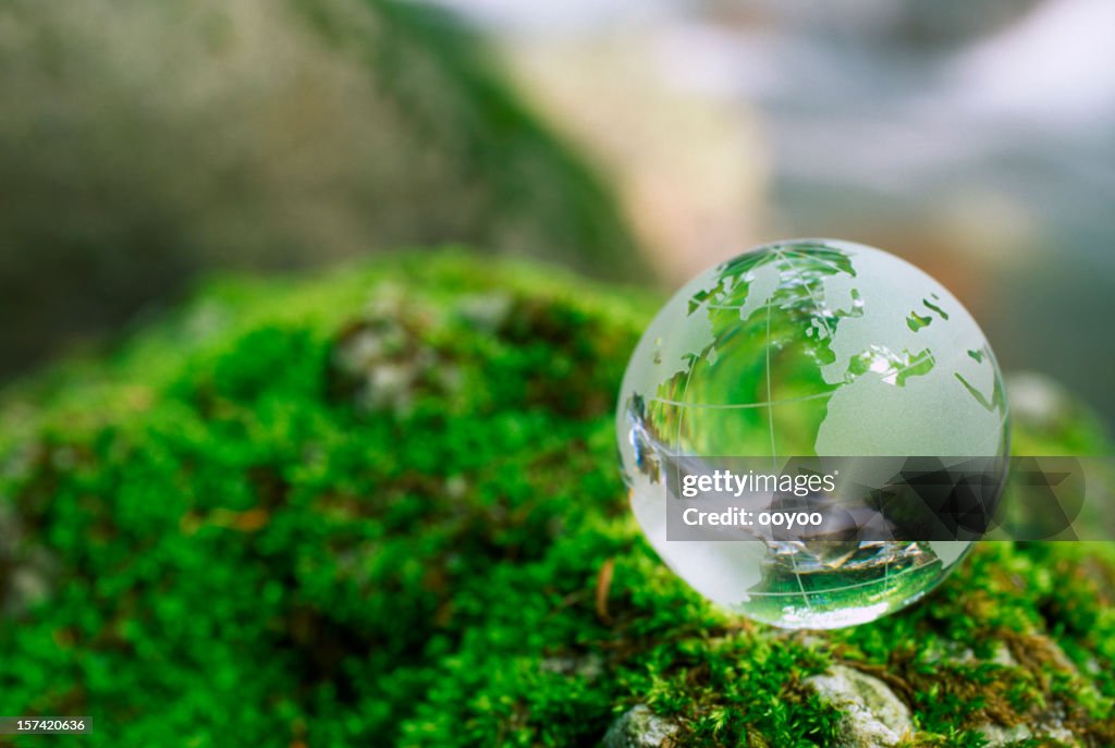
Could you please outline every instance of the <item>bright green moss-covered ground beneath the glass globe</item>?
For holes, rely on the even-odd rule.
[[[399,256],[214,283],[10,391],[0,713],[90,715],[90,746],[565,746],[644,703],[679,745],[825,746],[841,716],[805,681],[840,662],[911,707],[909,746],[1049,712],[1115,745],[1109,546],[989,543],[922,604],[826,634],[675,577],[615,468],[653,307]]]

